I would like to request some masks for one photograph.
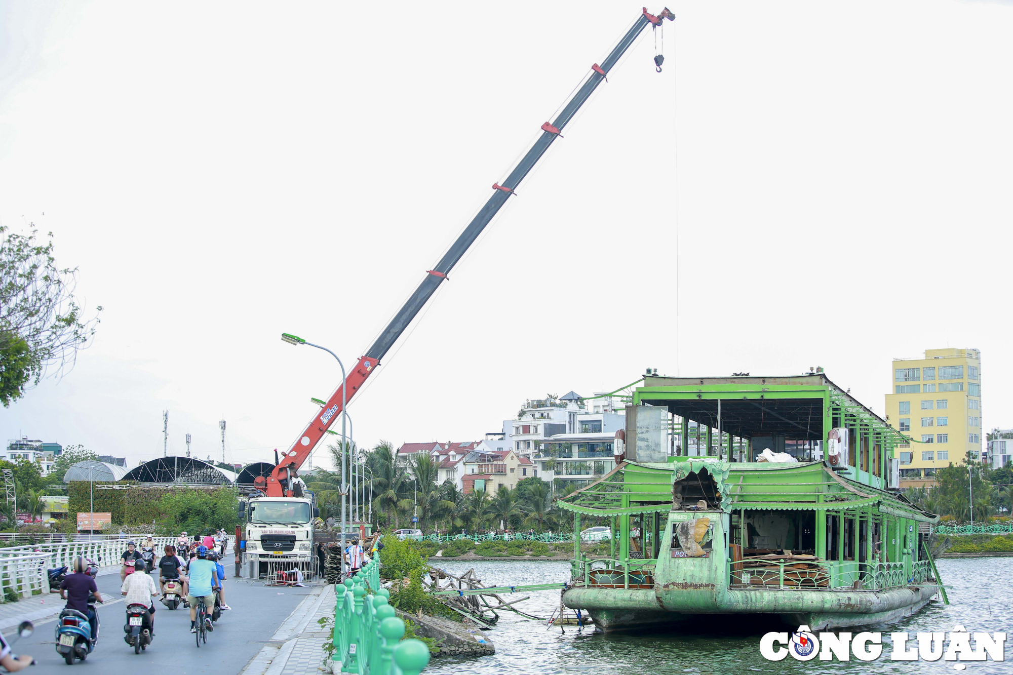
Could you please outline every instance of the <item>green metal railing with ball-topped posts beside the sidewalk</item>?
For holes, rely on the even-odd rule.
[[[333,672],[359,675],[418,675],[430,663],[420,640],[401,640],[404,621],[380,588],[380,560],[374,556],[343,584],[334,586]]]

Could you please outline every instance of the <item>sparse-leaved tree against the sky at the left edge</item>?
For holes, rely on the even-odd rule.
[[[0,402],[4,407],[24,396],[51,368],[62,374],[73,367],[77,351],[87,347],[98,324],[97,315],[84,318],[74,297],[77,269],[59,269],[53,242],[40,243],[36,234],[35,229],[27,235],[14,234],[0,226]]]

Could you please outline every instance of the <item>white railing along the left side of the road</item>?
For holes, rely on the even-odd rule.
[[[99,539],[95,541],[62,541],[56,543],[27,544],[0,548],[0,602],[8,602],[7,590],[13,591],[24,598],[31,597],[34,592],[49,592],[49,577],[47,570],[71,567],[74,558],[81,555],[91,558],[95,565],[102,567],[119,565],[120,556],[127,550],[127,542],[134,541],[138,545],[144,543],[147,535],[131,538]],[[175,545],[176,537],[153,537],[156,559],[162,556],[166,545]]]

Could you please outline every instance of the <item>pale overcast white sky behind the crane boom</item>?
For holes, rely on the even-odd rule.
[[[642,2],[0,0],[0,225],[101,323],[3,438],[286,449]],[[1013,426],[1013,3],[675,2],[348,406],[372,446],[527,398],[982,350]],[[660,10],[649,7],[649,10]],[[655,47],[656,44],[656,47]],[[655,49],[666,60],[654,70]],[[317,465],[328,465],[319,449]]]

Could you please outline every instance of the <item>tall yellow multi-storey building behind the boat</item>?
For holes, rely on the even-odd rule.
[[[982,454],[982,354],[925,350],[924,359],[894,359],[886,421],[915,443],[901,444],[901,486],[934,484],[936,469]],[[920,441],[920,442],[919,442]]]

